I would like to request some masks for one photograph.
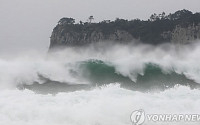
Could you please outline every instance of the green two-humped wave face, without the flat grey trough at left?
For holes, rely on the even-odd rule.
[[[136,81],[116,72],[116,67],[101,60],[89,60],[79,65],[81,76],[95,85],[120,83],[122,87],[132,90],[165,90],[175,85],[191,88],[199,87],[198,83],[188,79],[184,74],[175,71],[163,72],[162,68],[153,63],[145,64],[143,75],[137,74]],[[135,74],[135,73],[133,73]]]

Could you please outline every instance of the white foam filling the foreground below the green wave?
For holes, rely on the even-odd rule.
[[[29,90],[0,92],[1,125],[131,125],[132,111],[146,114],[198,114],[200,91],[176,87],[161,93],[129,91],[110,84],[90,91],[34,94]],[[162,122],[147,125],[160,125]],[[169,123],[165,123],[169,124]],[[170,125],[198,125],[196,122]]]

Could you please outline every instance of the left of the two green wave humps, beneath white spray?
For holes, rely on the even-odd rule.
[[[115,67],[101,60],[89,60],[80,63],[79,66],[83,78],[94,84],[106,83],[133,83],[133,81],[120,73],[117,73]]]

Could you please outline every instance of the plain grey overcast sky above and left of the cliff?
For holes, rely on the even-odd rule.
[[[0,53],[42,50],[58,20],[148,19],[180,9],[200,12],[200,0],[0,0]]]

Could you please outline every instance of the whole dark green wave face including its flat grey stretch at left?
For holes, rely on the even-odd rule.
[[[134,67],[130,67],[130,69]],[[42,84],[35,82],[34,84],[27,85],[26,83],[18,86],[19,89],[27,88],[37,93],[58,93],[69,92],[76,90],[88,90],[96,86],[107,85],[111,83],[118,83],[122,88],[152,92],[163,91],[173,88],[176,85],[188,86],[190,88],[200,88],[200,85],[193,80],[187,78],[184,74],[178,74],[174,70],[165,71],[157,64],[146,63],[144,64],[143,73],[131,72],[130,74],[135,77],[132,80],[131,76],[126,76],[117,71],[117,66],[112,63],[104,62],[101,60],[87,60],[71,65],[70,76],[83,80],[87,84],[68,83],[62,81],[55,81],[50,78],[38,74],[40,80],[45,81]]]

